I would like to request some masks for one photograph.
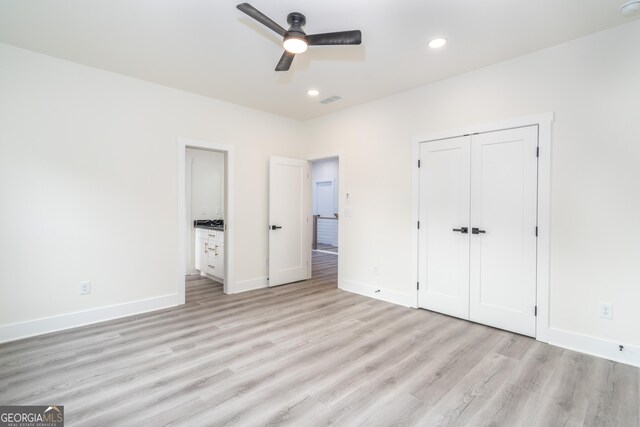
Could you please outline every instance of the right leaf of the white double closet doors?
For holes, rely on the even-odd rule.
[[[470,320],[535,336],[538,128],[471,141]]]

